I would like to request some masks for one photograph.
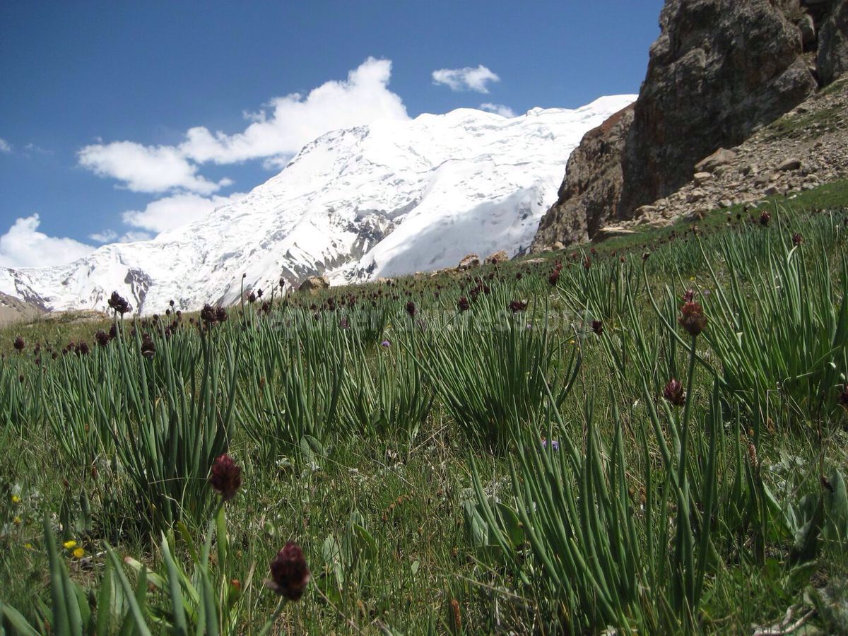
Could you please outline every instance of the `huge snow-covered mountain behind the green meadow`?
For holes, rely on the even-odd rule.
[[[282,172],[190,225],[98,248],[69,265],[0,269],[0,292],[48,310],[140,313],[229,304],[245,289],[334,284],[527,248],[583,134],[635,100],[505,118],[473,109],[329,132]],[[244,281],[243,279],[244,277]]]

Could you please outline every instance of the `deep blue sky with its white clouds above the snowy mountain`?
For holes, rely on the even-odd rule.
[[[330,128],[638,92],[661,5],[0,3],[0,266],[198,218]]]

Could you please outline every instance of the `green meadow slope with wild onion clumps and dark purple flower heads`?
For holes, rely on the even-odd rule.
[[[845,632],[828,188],[469,271],[8,327],[0,632]]]

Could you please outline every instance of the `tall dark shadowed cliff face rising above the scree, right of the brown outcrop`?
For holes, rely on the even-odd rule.
[[[666,3],[625,144],[620,217],[674,192],[700,159],[816,90],[794,8],[797,0]]]

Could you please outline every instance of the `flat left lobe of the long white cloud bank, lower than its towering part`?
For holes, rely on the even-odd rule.
[[[207,181],[173,146],[142,146],[135,142],[97,143],[78,153],[80,165],[98,176],[125,181],[133,192],[166,192],[180,187],[190,192],[211,194],[232,181]]]

